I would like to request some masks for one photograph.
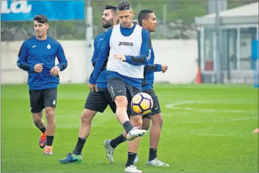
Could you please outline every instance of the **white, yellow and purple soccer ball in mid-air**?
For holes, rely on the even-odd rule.
[[[147,93],[138,93],[131,100],[131,107],[137,114],[145,115],[153,108],[153,99]]]

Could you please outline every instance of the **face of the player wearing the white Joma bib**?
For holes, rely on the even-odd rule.
[[[132,18],[134,17],[133,10],[117,11],[119,21],[123,28],[130,28],[132,24]]]

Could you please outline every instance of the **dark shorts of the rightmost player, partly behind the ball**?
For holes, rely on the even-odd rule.
[[[150,118],[150,116],[161,113],[160,104],[158,101],[158,97],[153,89],[144,90],[143,92],[149,94],[153,100],[153,108],[150,113],[143,116],[143,118]]]

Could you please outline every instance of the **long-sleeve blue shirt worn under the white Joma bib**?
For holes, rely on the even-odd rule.
[[[135,24],[132,28],[126,29],[126,28],[120,28],[122,35],[125,37],[130,36],[134,29],[135,29]],[[90,84],[96,84],[96,80],[98,76],[100,75],[100,72],[103,70],[103,68],[106,66],[107,62],[107,57],[109,55],[109,50],[110,50],[110,37],[112,33],[112,29],[109,29],[106,32],[105,38],[104,38],[104,45],[102,47],[101,53],[99,54],[97,60],[96,60],[96,65],[95,68],[93,69],[93,72],[90,76],[89,83]],[[143,29],[142,30],[142,46],[140,48],[140,55],[139,56],[130,56],[130,55],[125,55],[126,57],[126,62],[132,65],[146,65],[148,64],[150,57],[151,57],[151,39],[149,35],[149,31]],[[113,56],[113,55],[111,55]],[[111,57],[113,58],[113,57]],[[114,71],[109,71],[107,70],[106,72],[107,79],[110,77],[117,77],[121,78],[123,81],[126,83],[132,85],[133,87],[136,88],[142,88],[141,83],[143,79],[135,79],[135,78],[130,78],[127,76],[123,76],[120,73],[114,72]]]

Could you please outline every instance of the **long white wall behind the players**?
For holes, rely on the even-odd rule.
[[[68,61],[67,69],[60,74],[60,83],[84,83],[92,70],[86,58],[86,43],[60,41]],[[27,72],[16,66],[22,41],[1,41],[1,84],[27,83]],[[155,63],[169,66],[166,73],[157,72],[155,82],[191,83],[196,78],[198,48],[196,40],[152,40]],[[88,62],[88,65],[87,65]],[[87,69],[89,66],[90,70]]]

